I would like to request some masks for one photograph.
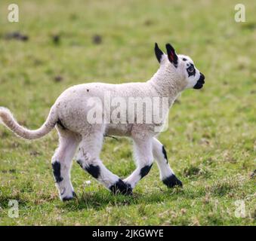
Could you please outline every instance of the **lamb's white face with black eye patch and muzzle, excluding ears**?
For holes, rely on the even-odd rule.
[[[199,72],[198,69],[196,69],[193,60],[189,56],[179,54],[178,59],[180,70],[184,72],[187,81],[186,89],[201,89],[205,84],[205,75],[203,75],[201,72]]]

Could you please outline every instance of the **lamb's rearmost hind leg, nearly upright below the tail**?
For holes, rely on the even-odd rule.
[[[62,127],[57,127],[57,130],[60,136],[60,145],[52,157],[51,165],[60,200],[67,201],[76,196],[70,181],[70,169],[72,157],[79,145],[79,136],[69,130],[63,130]]]

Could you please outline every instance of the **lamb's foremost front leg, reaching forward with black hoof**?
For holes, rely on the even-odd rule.
[[[171,169],[164,145],[159,142],[158,139],[153,138],[153,156],[156,159],[157,166],[160,171],[160,178],[162,182],[168,186],[168,188],[173,188],[174,186],[182,186],[182,182],[174,175]]]

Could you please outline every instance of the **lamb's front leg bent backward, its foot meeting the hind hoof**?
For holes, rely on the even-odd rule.
[[[137,168],[124,180],[131,188],[150,172],[153,165],[152,139],[134,139],[134,156]]]

